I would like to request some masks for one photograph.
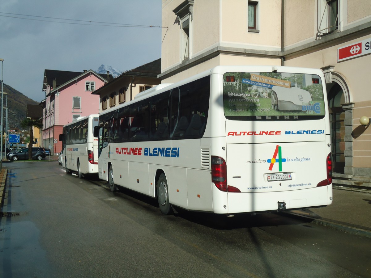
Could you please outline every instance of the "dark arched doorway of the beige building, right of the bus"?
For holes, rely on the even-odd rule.
[[[344,92],[338,83],[332,82],[331,85],[331,89],[328,91],[328,104],[331,128],[332,171],[344,173],[345,110],[342,107],[342,104],[344,104]]]

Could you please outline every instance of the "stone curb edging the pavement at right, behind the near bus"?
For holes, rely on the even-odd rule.
[[[363,226],[357,226],[357,225],[350,225],[349,223],[340,222],[340,221],[334,221],[331,219],[321,218],[321,216],[318,216],[316,214],[313,214],[313,212],[306,212],[306,211],[291,211],[291,212],[284,212],[285,215],[288,215],[293,218],[305,218],[311,220],[311,223],[329,227],[332,229],[336,229],[339,231],[347,232],[349,234],[355,234],[364,236],[367,238],[371,238],[371,231],[370,229],[363,227]],[[315,216],[309,216],[309,215],[315,215]]]

